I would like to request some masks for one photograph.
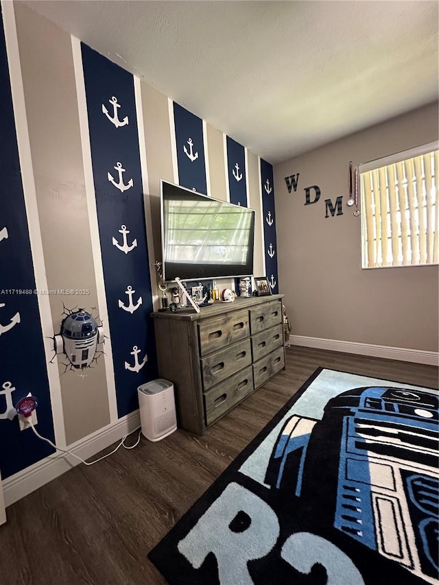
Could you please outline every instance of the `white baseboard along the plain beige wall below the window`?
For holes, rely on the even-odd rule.
[[[344,353],[384,357],[385,359],[399,359],[399,361],[427,363],[429,366],[439,365],[439,353],[436,351],[376,346],[357,342],[340,342],[336,339],[321,339],[320,337],[305,337],[303,335],[290,335],[289,342],[292,345],[327,349],[330,351],[342,351]]]

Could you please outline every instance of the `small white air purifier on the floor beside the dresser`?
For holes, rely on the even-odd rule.
[[[160,441],[177,429],[174,384],[160,378],[137,388],[142,434]]]

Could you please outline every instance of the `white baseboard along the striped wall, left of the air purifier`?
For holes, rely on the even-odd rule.
[[[67,449],[82,459],[93,457],[102,449],[106,449],[112,443],[119,441],[125,435],[129,435],[140,427],[139,410],[131,412],[117,422],[91,433],[87,437],[67,446]],[[36,427],[38,430],[38,427]],[[32,431],[26,431],[32,432]],[[28,494],[38,490],[45,483],[49,483],[59,475],[69,471],[81,462],[67,453],[57,451],[53,455],[34,463],[33,465],[11,475],[3,480],[3,497],[5,505],[11,505]]]

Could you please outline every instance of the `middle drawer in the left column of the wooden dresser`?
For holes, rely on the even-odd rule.
[[[203,388],[208,390],[252,363],[250,339],[201,358]]]

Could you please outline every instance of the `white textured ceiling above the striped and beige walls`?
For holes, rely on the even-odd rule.
[[[438,2],[25,0],[271,163],[438,99]]]

